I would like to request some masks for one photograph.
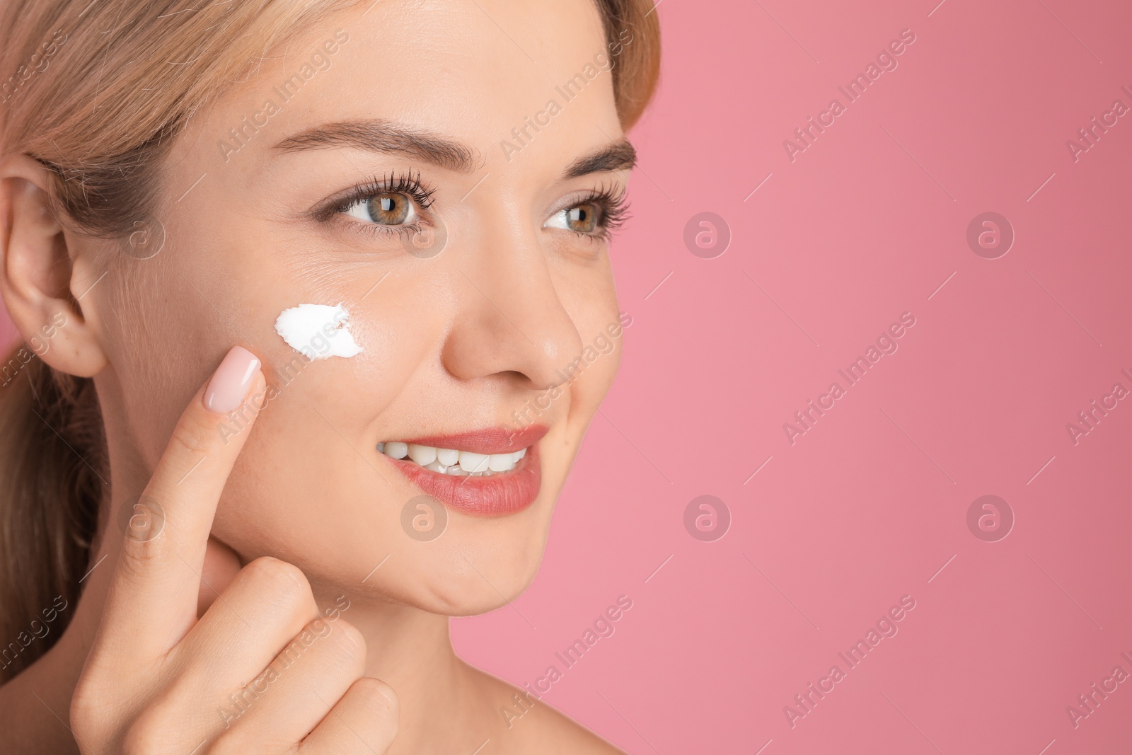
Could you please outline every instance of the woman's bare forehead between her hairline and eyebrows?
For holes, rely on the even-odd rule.
[[[310,126],[380,118],[496,157],[554,102],[540,140],[601,143],[619,132],[612,62],[593,0],[377,0],[305,31],[198,127],[211,141],[267,122],[264,151]]]

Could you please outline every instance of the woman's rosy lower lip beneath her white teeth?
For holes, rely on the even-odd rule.
[[[456,477],[427,470],[413,462],[386,456],[409,481],[462,514],[500,516],[534,503],[542,484],[539,446],[531,445],[509,472]]]

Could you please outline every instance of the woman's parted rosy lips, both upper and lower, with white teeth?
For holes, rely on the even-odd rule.
[[[534,503],[542,482],[544,426],[486,428],[378,444],[378,451],[426,494],[464,514],[496,516]]]

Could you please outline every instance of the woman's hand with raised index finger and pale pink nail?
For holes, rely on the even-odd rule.
[[[259,360],[232,349],[181,415],[127,527],[71,700],[84,754],[385,753],[397,697],[363,676],[366,643],[324,618],[295,566],[251,561],[197,618],[208,532],[251,422]]]

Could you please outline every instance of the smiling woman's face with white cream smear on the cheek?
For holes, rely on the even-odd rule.
[[[614,60],[592,0],[378,0],[265,60],[178,137],[160,228],[97,301],[112,437],[152,469],[243,345],[271,391],[216,538],[324,593],[449,615],[515,597],[620,358]],[[276,332],[300,304],[325,306],[292,312],[312,360]],[[426,462],[526,453],[460,477],[378,451],[412,440]]]

